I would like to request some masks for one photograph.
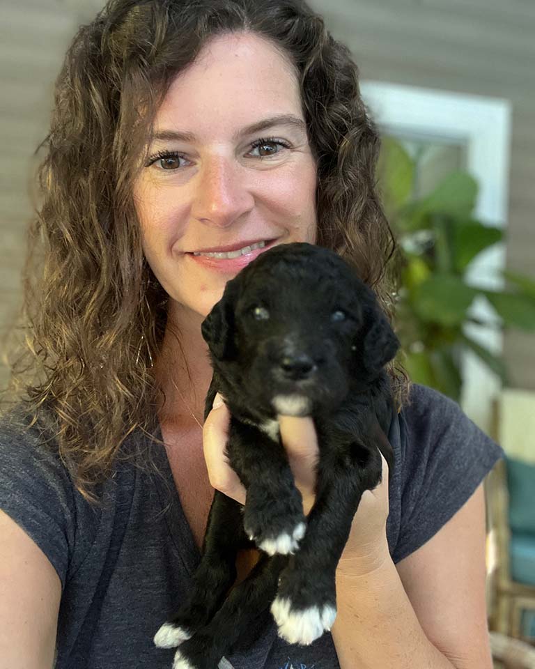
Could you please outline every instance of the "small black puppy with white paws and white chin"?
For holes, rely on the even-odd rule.
[[[212,383],[231,413],[228,461],[245,507],[215,492],[187,601],[155,636],[175,669],[212,669],[271,604],[279,636],[309,644],[336,617],[335,572],[362,493],[389,468],[392,415],[383,369],[398,339],[354,268],[305,243],[266,251],[226,284],[202,324]],[[318,435],[316,501],[306,518],[277,415],[311,416]],[[263,551],[228,594],[241,548]],[[227,597],[228,595],[228,597]]]

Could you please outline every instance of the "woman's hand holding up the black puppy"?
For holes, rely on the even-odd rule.
[[[203,428],[208,477],[215,489],[245,504],[245,488],[224,456],[230,413],[224,403],[217,406],[217,399],[218,395]],[[308,515],[313,507],[316,484],[316,429],[311,417],[279,416],[279,426],[295,485],[303,498],[304,514]],[[367,490],[362,495],[348,542],[341,555],[339,570],[361,576],[385,562],[389,556],[386,535],[388,511],[388,465],[382,457],[382,481],[373,491]]]

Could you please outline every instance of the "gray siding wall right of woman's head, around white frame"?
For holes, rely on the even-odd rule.
[[[535,3],[311,0],[362,79],[508,98],[513,109],[506,267],[535,277]],[[511,386],[535,389],[535,334],[506,332]]]

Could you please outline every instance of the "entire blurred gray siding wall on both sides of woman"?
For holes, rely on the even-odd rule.
[[[52,83],[98,0],[0,0],[0,336],[20,299],[32,153]],[[535,3],[527,0],[312,0],[352,49],[363,79],[509,98],[513,103],[507,266],[535,272]],[[511,385],[535,389],[535,335],[509,332]],[[0,385],[6,369],[0,366]]]

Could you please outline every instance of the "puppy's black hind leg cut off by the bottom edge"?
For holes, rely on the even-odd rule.
[[[214,669],[222,656],[231,654],[241,633],[270,606],[287,562],[285,555],[263,555],[251,574],[231,590],[212,620],[180,645],[173,669]]]

